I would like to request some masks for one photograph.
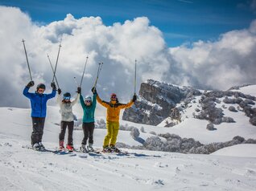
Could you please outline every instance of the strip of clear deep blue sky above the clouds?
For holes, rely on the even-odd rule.
[[[247,28],[256,18],[255,0],[0,0],[17,6],[34,22],[47,24],[70,13],[75,18],[100,16],[107,26],[146,16],[163,32],[168,47],[216,40],[230,30]]]

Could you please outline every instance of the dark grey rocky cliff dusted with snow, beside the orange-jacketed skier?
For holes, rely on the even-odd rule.
[[[179,87],[148,79],[141,83],[138,101],[132,108],[125,110],[122,120],[157,125],[171,115],[171,109],[176,104],[194,95],[201,95],[201,92],[192,87]]]

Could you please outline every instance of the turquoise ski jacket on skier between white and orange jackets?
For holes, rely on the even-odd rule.
[[[84,110],[84,116],[83,116],[84,123],[94,122],[94,112],[95,112],[96,103],[97,103],[96,97],[97,97],[97,94],[93,94],[93,102],[90,106],[87,106],[85,105],[83,96],[82,95],[80,96],[80,102]]]

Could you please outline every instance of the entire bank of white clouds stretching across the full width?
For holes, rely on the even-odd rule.
[[[123,103],[134,91],[134,60],[138,60],[137,92],[146,79],[179,85],[225,89],[255,82],[256,22],[245,30],[233,30],[216,42],[196,42],[190,47],[168,48],[162,32],[146,17],[105,26],[100,17],[74,18],[39,26],[19,8],[0,6],[0,106],[28,107],[22,95],[30,80],[22,39],[26,40],[28,59],[35,83],[46,83],[51,91],[52,63],[62,39],[57,79],[63,91],[75,94],[74,77],[80,82],[89,56],[82,85],[89,95],[103,62],[97,91],[103,100],[115,92]],[[31,88],[31,91],[35,87]],[[52,103],[54,104],[54,101]]]

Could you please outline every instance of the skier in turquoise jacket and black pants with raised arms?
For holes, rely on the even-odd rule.
[[[81,106],[84,110],[83,116],[83,132],[84,138],[81,144],[81,152],[89,152],[93,151],[93,131],[94,131],[94,112],[96,108],[96,97],[97,91],[95,88],[92,89],[93,91],[93,100],[92,97],[86,96],[85,100],[83,95],[80,96]],[[89,138],[89,145],[86,147],[87,140]]]

